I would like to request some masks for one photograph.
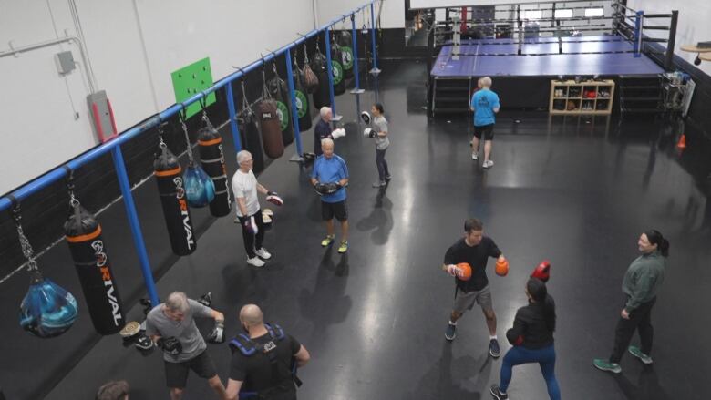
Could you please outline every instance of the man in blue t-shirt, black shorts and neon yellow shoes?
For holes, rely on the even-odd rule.
[[[343,238],[338,252],[343,254],[348,251],[348,210],[345,206],[345,185],[348,184],[348,168],[344,159],[334,154],[334,140],[324,138],[321,140],[321,149],[324,152],[314,162],[311,173],[311,184],[335,184],[337,190],[321,196],[321,217],[326,223],[326,237],[321,241],[321,246],[327,247],[335,240],[334,217],[341,222]]]

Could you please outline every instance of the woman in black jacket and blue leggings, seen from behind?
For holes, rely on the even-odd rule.
[[[531,278],[526,283],[526,296],[529,298],[529,305],[521,307],[516,312],[513,327],[506,332],[506,338],[513,347],[504,356],[500,385],[491,386],[491,395],[496,400],[508,399],[506,390],[509,388],[513,366],[538,363],[548,385],[548,395],[551,396],[551,400],[560,400],[561,389],[555,379],[555,349],[553,348],[555,303],[548,294],[546,284],[538,278]]]

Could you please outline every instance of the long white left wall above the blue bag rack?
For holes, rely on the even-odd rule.
[[[0,52],[10,41],[32,45],[65,29],[77,36],[71,1],[0,0]],[[119,131],[175,102],[170,72],[209,56],[218,79],[314,28],[312,0],[74,2],[93,80],[107,91]],[[67,77],[58,75],[53,58],[62,50],[79,63]],[[98,143],[88,119],[86,67],[72,44],[0,57],[0,193]]]

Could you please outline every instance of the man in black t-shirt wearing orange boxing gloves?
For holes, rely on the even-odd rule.
[[[457,320],[467,310],[479,303],[486,317],[489,327],[489,354],[492,357],[500,356],[499,340],[496,336],[496,313],[494,313],[491,292],[489,291],[489,278],[485,268],[489,257],[505,261],[503,254],[491,238],[483,235],[484,225],[481,221],[471,218],[464,222],[464,238],[459,239],[449,247],[444,258],[442,269],[455,277],[457,290],[455,292],[454,307],[447,325],[445,337],[448,341],[454,340],[457,335]],[[467,262],[471,266],[471,279],[462,281],[457,277],[456,265]]]

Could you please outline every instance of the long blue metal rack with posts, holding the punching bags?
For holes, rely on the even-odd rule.
[[[287,83],[289,87],[289,96],[291,97],[291,102],[292,102],[292,116],[291,120],[293,121],[294,124],[294,140],[296,142],[296,152],[297,154],[294,155],[294,158],[292,160],[303,160],[304,152],[302,149],[302,143],[301,143],[301,130],[299,129],[299,118],[298,118],[298,113],[297,113],[297,108],[296,108],[296,97],[294,94],[294,75],[293,75],[293,69],[292,69],[292,62],[293,58],[291,56],[291,49],[294,48],[295,46],[299,46],[301,44],[304,44],[306,40],[318,36],[323,32],[323,35],[325,37],[325,55],[326,55],[326,63],[328,65],[328,71],[332,71],[333,67],[331,64],[331,41],[330,41],[330,34],[332,27],[335,26],[335,24],[338,23],[343,23],[345,22],[345,19],[350,17],[351,20],[351,35],[352,35],[352,40],[353,40],[353,53],[354,53],[354,59],[358,59],[358,54],[357,54],[357,35],[356,35],[356,14],[360,12],[364,12],[366,10],[366,7],[370,7],[370,36],[371,36],[371,46],[372,46],[372,53],[373,53],[373,67],[369,71],[372,75],[377,76],[381,71],[377,67],[377,54],[376,54],[376,14],[375,14],[375,5],[378,1],[382,0],[371,0],[367,2],[364,5],[361,5],[357,7],[356,9],[350,11],[349,13],[346,13],[345,15],[338,15],[337,18],[333,19],[332,21],[326,23],[324,26],[321,26],[317,29],[314,29],[313,31],[309,32],[306,35],[301,35],[301,37],[294,42],[283,46],[279,48],[276,51],[270,52],[268,56],[264,56],[263,58],[260,58],[257,61],[254,61],[252,64],[248,65],[247,67],[235,67],[237,69],[236,72],[233,72],[232,74],[228,75],[227,77],[223,77],[219,81],[215,82],[211,87],[201,91],[200,93],[195,94],[194,96],[186,99],[185,101],[181,103],[176,103],[170,106],[169,108],[166,108],[165,110],[161,111],[160,113],[156,114],[155,116],[149,118],[142,124],[129,128],[128,130],[124,131],[120,135],[118,135],[115,138],[110,139],[109,141],[97,146],[94,149],[88,150],[88,152],[78,156],[76,159],[71,159],[65,164],[64,166],[57,167],[57,169],[52,169],[51,171],[47,172],[45,175],[42,175],[39,178],[36,178],[34,180],[31,180],[27,182],[25,185],[21,186],[20,188],[12,191],[8,195],[4,196],[3,198],[0,198],[0,212],[9,210],[12,207],[18,207],[19,204],[22,202],[22,200],[25,200],[29,196],[32,196],[33,194],[37,193],[39,190],[45,189],[47,186],[51,185],[52,183],[57,182],[59,179],[66,179],[68,178],[67,176],[67,170],[68,171],[73,171],[76,170],[86,164],[88,162],[91,162],[95,159],[98,159],[99,157],[111,153],[111,157],[113,159],[114,163],[114,169],[116,169],[116,175],[118,179],[118,186],[121,190],[121,195],[124,200],[124,206],[126,209],[126,214],[128,216],[129,220],[129,227],[131,230],[131,236],[133,237],[133,244],[136,248],[136,251],[139,256],[139,263],[140,263],[140,269],[143,274],[143,281],[146,285],[146,290],[149,294],[150,301],[153,304],[158,304],[160,303],[159,297],[158,297],[158,292],[156,292],[156,285],[155,281],[153,280],[153,273],[150,268],[150,263],[149,263],[149,257],[148,257],[148,251],[146,250],[146,244],[143,239],[143,233],[140,228],[140,222],[139,222],[139,215],[138,211],[136,210],[136,204],[134,203],[133,196],[131,194],[131,185],[129,182],[129,175],[128,171],[126,169],[126,164],[124,162],[123,154],[121,152],[121,145],[124,143],[129,142],[130,139],[138,137],[141,133],[146,132],[150,128],[157,128],[160,126],[160,124],[163,121],[166,121],[168,118],[171,118],[178,114],[183,108],[186,108],[187,106],[190,106],[191,104],[201,101],[201,99],[207,97],[213,92],[216,92],[217,90],[220,90],[222,88],[225,89],[226,91],[226,97],[227,97],[227,107],[230,115],[230,127],[232,129],[232,138],[234,140],[234,147],[235,151],[241,151],[242,150],[242,142],[240,140],[240,130],[237,126],[237,113],[235,111],[235,105],[234,105],[234,97],[232,95],[232,82],[240,79],[241,77],[246,77],[246,74],[249,73],[250,71],[262,67],[265,63],[275,59],[277,56],[284,55],[285,56],[285,62],[286,62],[286,73],[287,73]],[[23,51],[22,48],[15,48],[15,51]],[[358,63],[354,63],[354,76],[356,78],[355,80],[355,85],[356,88],[351,92],[355,95],[359,95],[360,93],[363,93],[362,89],[360,89],[360,81],[358,77]],[[335,113],[335,95],[334,95],[334,82],[333,82],[333,74],[329,73],[328,74],[328,83],[330,87],[330,99],[331,99],[331,108],[333,109],[334,115]],[[37,254],[39,256],[41,254]],[[23,264],[19,269],[16,271],[19,271],[25,266]],[[14,273],[14,272],[13,272]]]

